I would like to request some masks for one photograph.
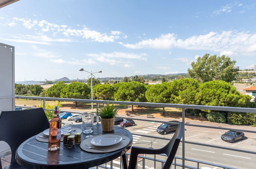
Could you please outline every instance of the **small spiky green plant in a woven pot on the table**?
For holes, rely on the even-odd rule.
[[[115,106],[114,103],[110,105],[109,102],[99,109],[97,115],[101,117],[102,130],[104,132],[114,130],[114,122],[117,111],[119,111],[119,106]]]

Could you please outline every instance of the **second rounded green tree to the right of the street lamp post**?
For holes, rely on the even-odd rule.
[[[118,101],[146,101],[145,92],[146,86],[140,82],[132,81],[132,82],[123,82],[121,86],[119,86],[118,90],[114,94],[115,100]],[[133,105],[132,105],[133,112]]]

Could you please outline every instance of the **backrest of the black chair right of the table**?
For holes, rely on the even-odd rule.
[[[183,122],[180,122],[169,143],[162,148],[165,151],[165,154],[168,156],[165,164],[162,167],[163,169],[167,169],[167,168],[169,169],[171,167],[172,161],[178,150],[183,134],[184,134],[184,124]]]

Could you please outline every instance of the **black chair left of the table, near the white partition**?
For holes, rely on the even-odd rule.
[[[6,168],[23,168],[15,160],[18,146],[28,138],[48,129],[50,123],[43,108],[22,111],[3,111],[0,114],[0,141],[11,147],[11,163]],[[0,169],[2,163],[0,162]]]

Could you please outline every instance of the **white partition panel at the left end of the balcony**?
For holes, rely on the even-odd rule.
[[[14,47],[0,43],[0,112],[14,110]]]

